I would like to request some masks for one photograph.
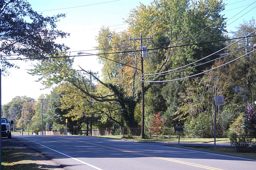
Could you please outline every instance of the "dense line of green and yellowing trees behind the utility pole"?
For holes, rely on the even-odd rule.
[[[112,126],[113,131],[128,127],[131,132],[140,128],[141,50],[130,36],[142,34],[153,37],[144,41],[146,129],[161,113],[165,128],[184,126],[188,136],[212,137],[214,96],[224,96],[225,105],[217,107],[217,136],[226,136],[230,128],[239,130],[241,113],[247,102],[255,100],[256,55],[250,52],[256,43],[252,34],[256,24],[252,18],[241,23],[233,36],[224,36],[226,23],[220,14],[224,8],[222,0],[154,0],[132,9],[125,21],[128,30],[102,28],[96,37],[102,78],[81,65],[97,84],[72,68],[73,59],[54,58],[65,53],[50,54],[30,70],[41,76],[45,87],[57,84],[47,96],[46,113],[51,115],[47,122],[57,127],[68,118],[72,133],[72,125]]]

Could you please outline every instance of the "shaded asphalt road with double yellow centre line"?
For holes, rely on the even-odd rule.
[[[16,136],[66,170],[255,170],[256,160],[89,136]]]

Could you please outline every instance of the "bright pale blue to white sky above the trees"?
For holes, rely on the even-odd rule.
[[[52,16],[58,13],[65,13],[58,23],[58,29],[69,32],[71,35],[66,39],[57,40],[60,44],[70,47],[71,55],[79,51],[90,50],[95,47],[95,37],[99,28],[109,26],[116,32],[122,31],[127,26],[124,19],[132,8],[139,6],[139,2],[149,5],[150,0],[29,0],[35,11],[41,11],[45,16]],[[256,1],[254,0],[224,0],[227,3],[222,13],[227,18],[227,30],[236,31],[236,27],[248,21],[256,13]],[[253,3],[253,5],[250,5]],[[63,9],[65,8],[65,9]],[[229,19],[229,20],[228,20]],[[89,53],[96,53],[91,51]],[[100,71],[97,57],[76,57],[74,68],[78,65],[85,70],[94,72]],[[12,68],[9,76],[2,76],[2,104],[11,101],[15,96],[27,96],[37,99],[40,94],[50,92],[50,89],[43,88],[41,83],[35,82],[37,77],[26,73],[31,68],[31,62],[17,61],[20,69]]]

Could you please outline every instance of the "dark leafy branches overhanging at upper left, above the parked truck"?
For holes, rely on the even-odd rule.
[[[47,57],[49,53],[68,49],[54,42],[57,37],[68,35],[56,29],[56,22],[63,17],[63,14],[44,17],[26,0],[0,0],[1,70],[15,66],[6,60],[12,54]]]

